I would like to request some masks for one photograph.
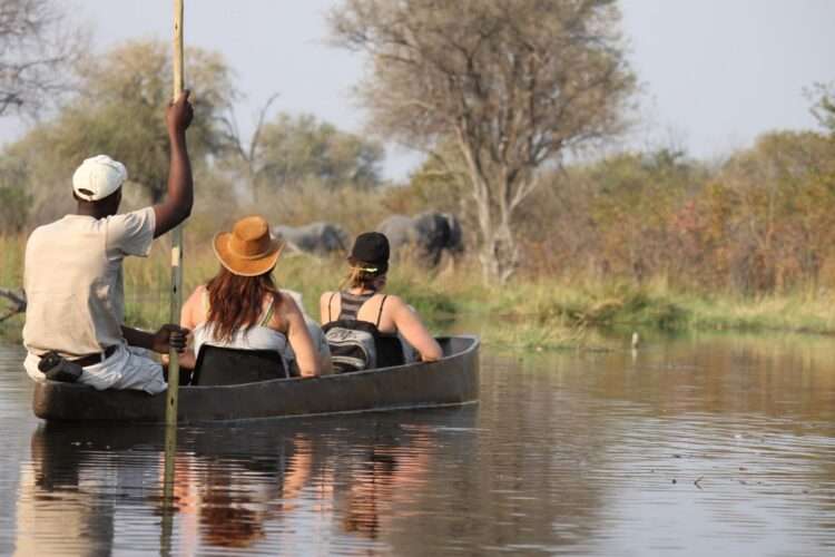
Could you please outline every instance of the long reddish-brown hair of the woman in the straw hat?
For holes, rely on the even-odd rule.
[[[273,271],[258,276],[240,276],[226,267],[206,284],[209,299],[207,323],[217,340],[229,341],[239,329],[252,329],[264,313],[264,301],[269,296],[277,309],[282,295],[273,282]]]

